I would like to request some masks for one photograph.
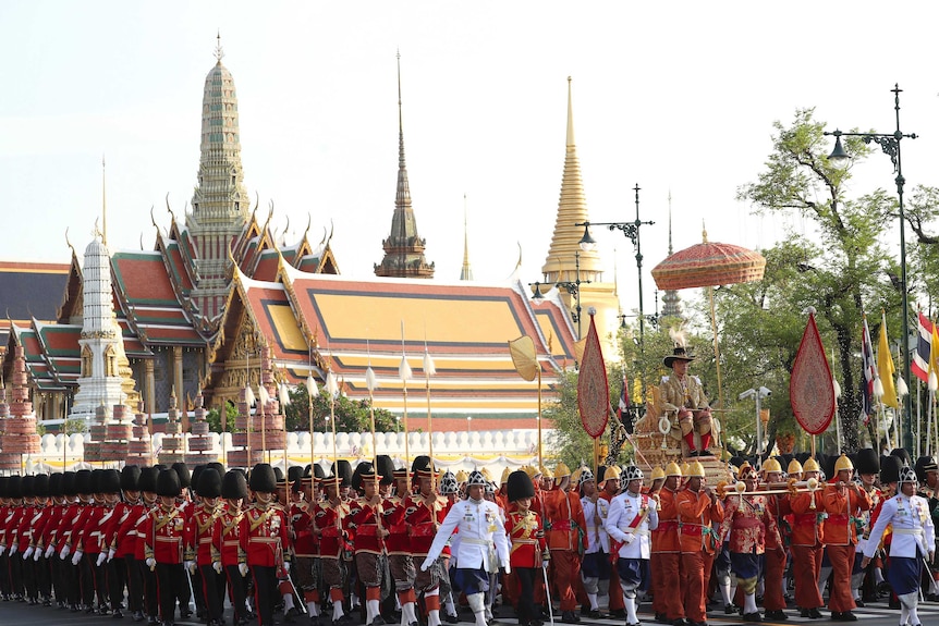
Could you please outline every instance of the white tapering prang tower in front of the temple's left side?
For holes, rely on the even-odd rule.
[[[69,418],[93,421],[103,406],[110,422],[114,405],[125,400],[120,372],[124,342],[113,307],[110,253],[98,234],[85,248],[82,279],[82,375]]]

